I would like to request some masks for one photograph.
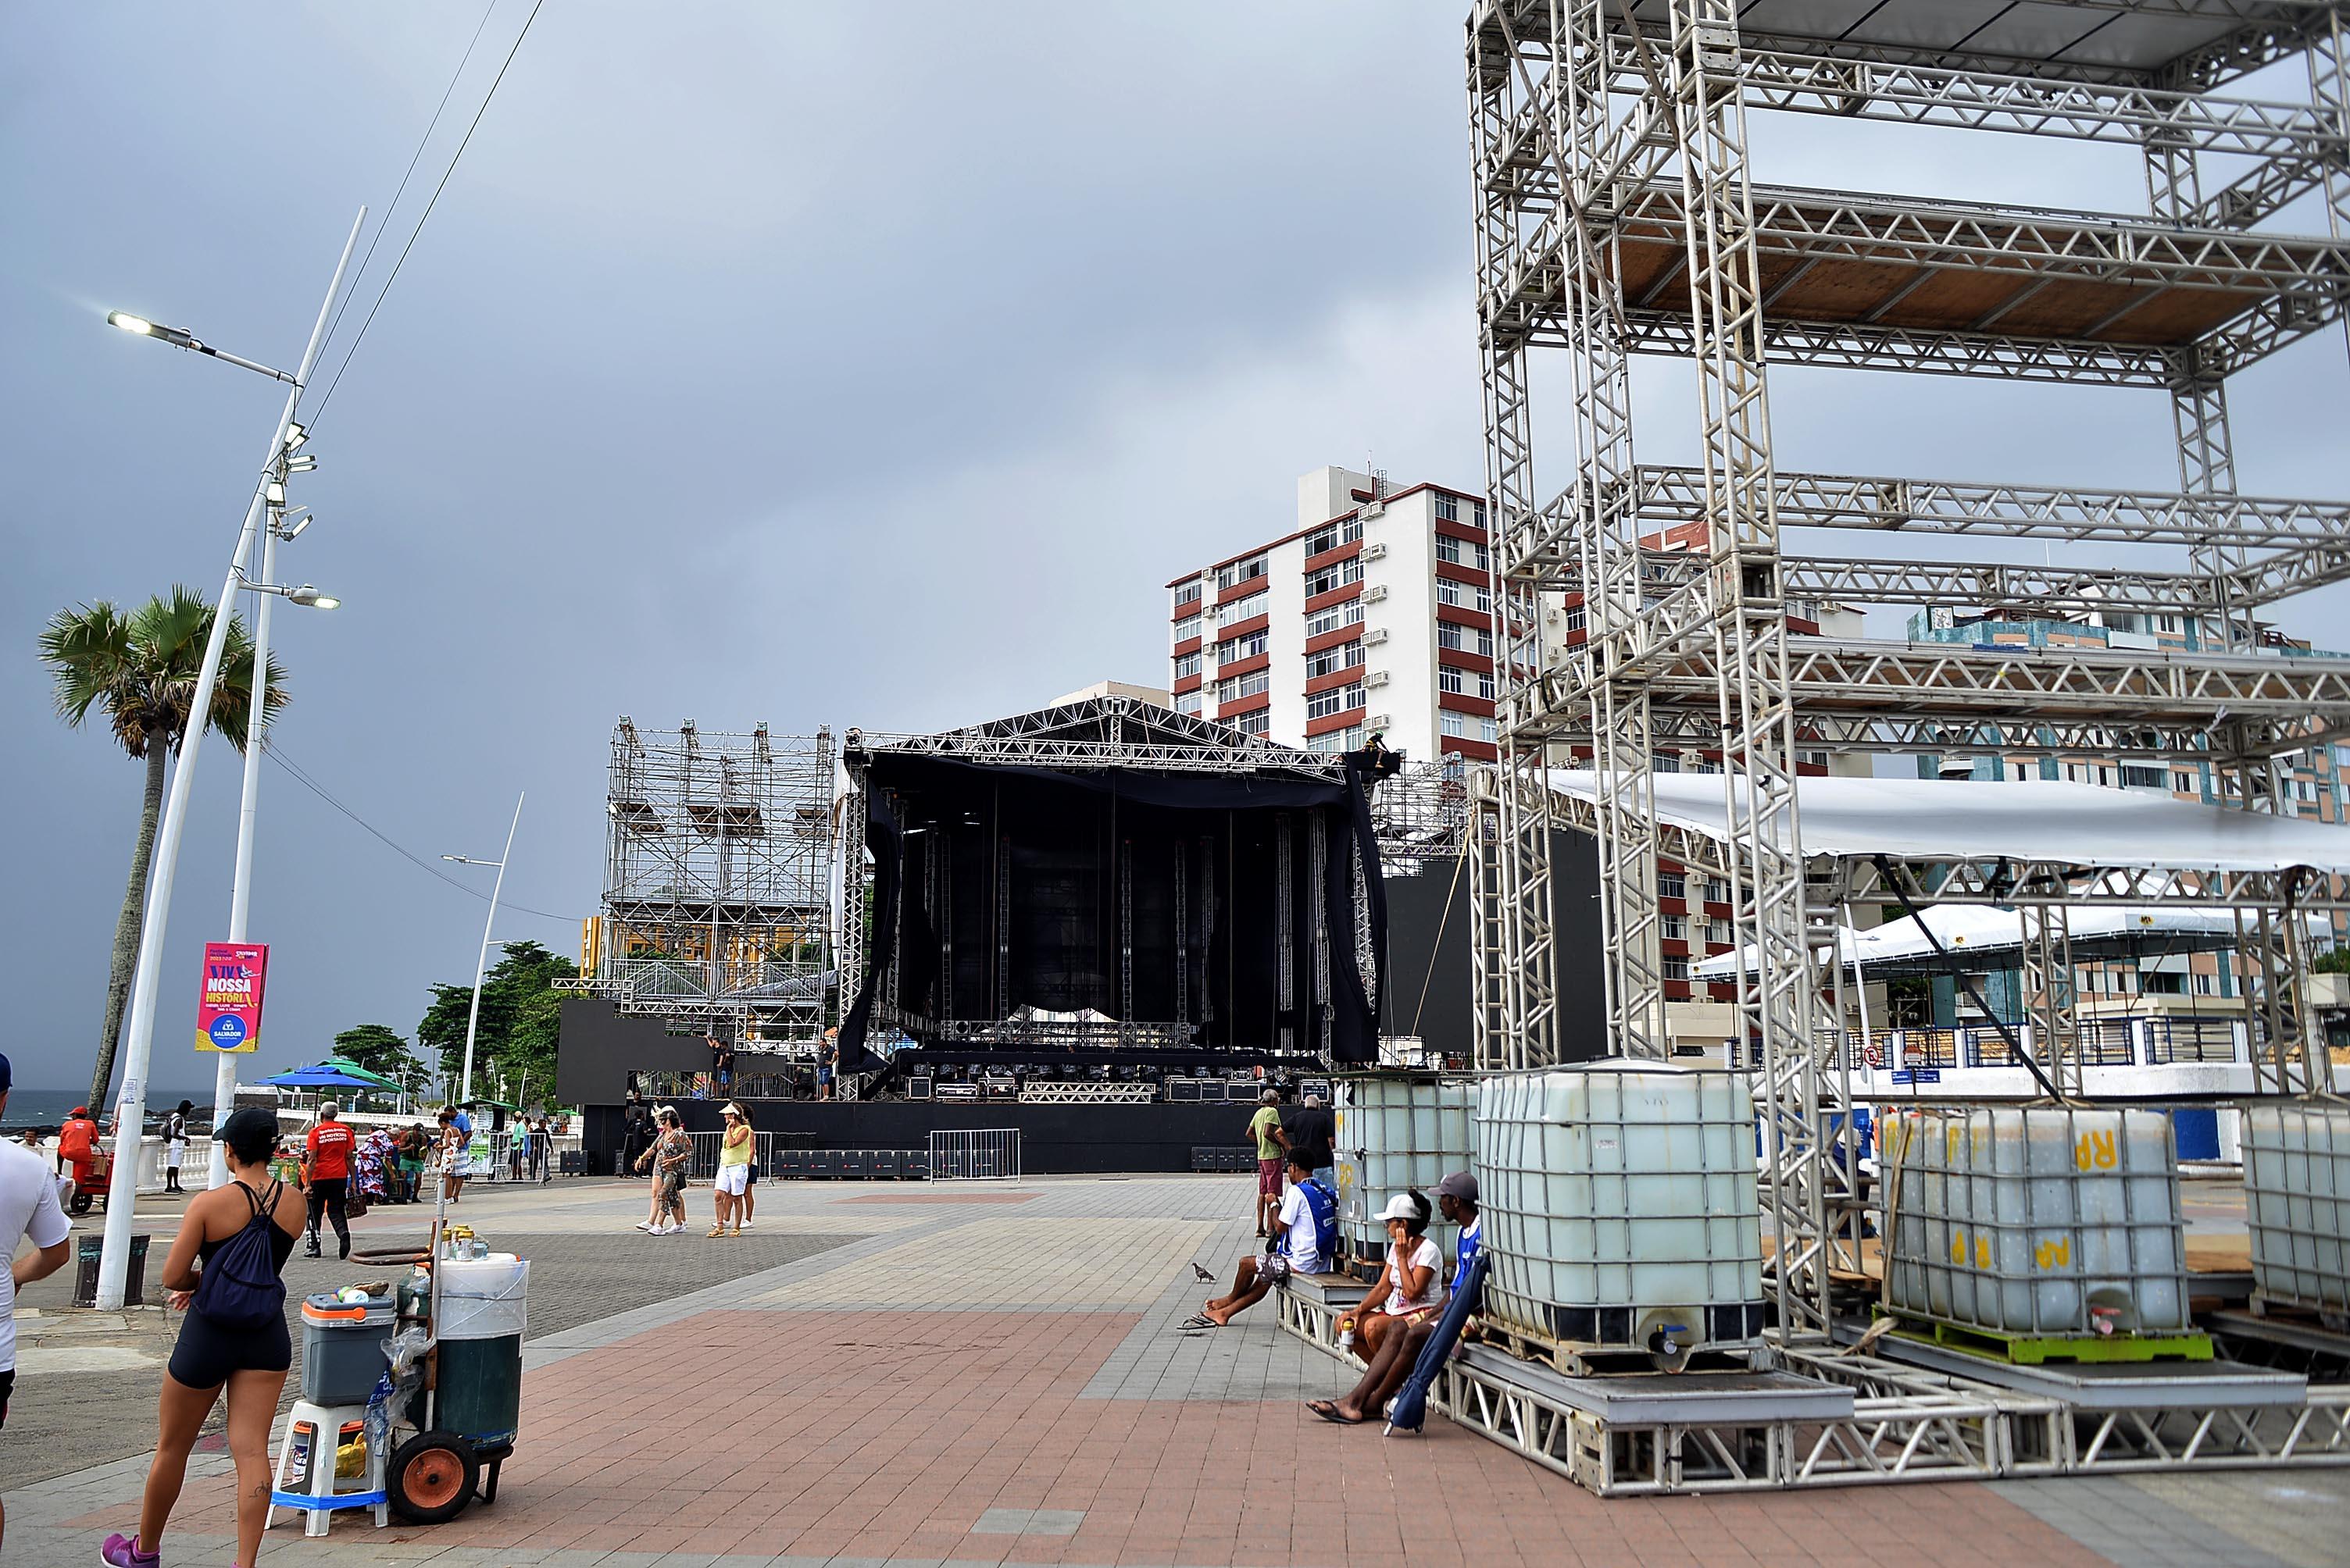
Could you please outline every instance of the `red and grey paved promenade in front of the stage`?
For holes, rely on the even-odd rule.
[[[1241,1178],[759,1192],[740,1242],[639,1237],[637,1185],[468,1199],[489,1239],[540,1261],[498,1502],[437,1528],[341,1516],[317,1542],[280,1516],[263,1559],[2350,1563],[2343,1472],[1603,1502],[1443,1418],[1417,1439],[1332,1427],[1302,1401],[1344,1387],[1337,1361],[1283,1336],[1269,1305],[1217,1333],[1175,1331],[1210,1293],[1191,1263],[1229,1275],[1250,1246]],[[707,1225],[705,1188],[691,1209]],[[768,1246],[787,1256],[754,1251]],[[632,1284],[599,1312],[604,1275]],[[637,1284],[663,1275],[672,1289]],[[108,1394],[150,1413],[155,1376],[108,1373]],[[49,1383],[21,1383],[19,1411]],[[0,1444],[19,1441],[19,1420]],[[125,1448],[9,1491],[9,1568],[94,1561],[106,1530],[132,1528],[143,1474]],[[226,1563],[228,1545],[226,1455],[200,1453],[164,1563]]]

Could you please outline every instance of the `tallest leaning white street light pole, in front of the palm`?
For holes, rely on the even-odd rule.
[[[228,643],[230,608],[235,606],[237,584],[244,577],[244,563],[254,552],[254,530],[268,505],[268,486],[277,472],[277,455],[284,451],[287,427],[294,423],[294,411],[301,404],[301,387],[310,378],[310,366],[317,364],[320,345],[327,340],[327,315],[334,310],[334,296],[343,291],[343,272],[350,268],[352,246],[360,244],[362,223],[367,223],[364,207],[350,225],[350,237],[343,239],[343,256],[334,263],[334,282],[327,284],[327,298],[317,307],[317,322],[310,326],[310,345],[303,350],[301,369],[287,390],[284,411],[270,432],[261,479],[254,484],[254,500],[244,509],[244,523],[237,528],[237,547],[228,556],[228,580],[221,582],[221,596],[212,606],[212,636],[204,638],[204,662],[197,669],[195,692],[188,702],[188,737],[179,746],[179,765],[172,768],[172,793],[164,798],[162,826],[155,836],[155,885],[148,890],[146,918],[139,925],[139,967],[132,974],[132,1012],[122,1030],[127,1035],[122,1099],[115,1101],[115,1164],[106,1183],[106,1242],[99,1251],[96,1291],[96,1305],[106,1312],[122,1307],[129,1279],[132,1209],[139,1202],[139,1141],[146,1136],[148,1061],[155,1047],[155,993],[162,986],[162,941],[164,927],[172,922],[172,873],[179,869],[179,840],[188,826],[195,753],[204,739],[204,718],[212,714],[212,688],[221,678],[221,650]],[[214,1115],[219,1115],[219,1106],[214,1106]]]

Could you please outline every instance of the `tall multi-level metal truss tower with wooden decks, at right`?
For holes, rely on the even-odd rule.
[[[2289,101],[2244,77],[2305,66]],[[2275,70],[2270,70],[2275,68]],[[1758,185],[1748,113],[2134,146],[2138,216]],[[1478,333],[1502,592],[1502,768],[1471,871],[1485,1066],[1560,1056],[1549,922],[1549,770],[1589,765],[1565,812],[1600,845],[1610,1045],[1664,1054],[1657,854],[1734,887],[1746,1035],[1772,1141],[1765,1209],[1788,1336],[1828,1319],[1859,1204],[1833,1157],[1824,946],[1840,904],[1904,887],[2033,908],[2030,1007],[2077,1084],[2066,904],[2080,869],[1859,866],[1800,852],[1798,749],[2204,758],[2275,810],[2275,758],[2350,735],[2350,667],[2258,646],[2254,615],[2350,577],[2350,507],[2240,495],[2228,378],[2341,331],[2350,298],[2345,16],[2331,0],[1478,0],[1469,19]],[[2240,169],[2218,183],[2223,167]],[[2209,183],[2207,183],[2209,181]],[[2287,209],[2291,207],[2291,214]],[[2305,223],[2303,214],[2319,214]],[[2270,232],[2280,216],[2303,230]],[[1530,359],[1565,350],[1572,439],[1535,481]],[[1633,455],[1631,357],[1694,373],[1699,460]],[[2178,488],[1781,472],[1770,366],[2059,380],[2169,394]],[[1704,526],[1690,552],[1654,545]],[[1786,554],[1781,533],[1901,530],[1943,559]],[[1969,559],[1976,540],[2129,545],[2160,570]],[[2110,559],[2110,552],[2106,552]],[[1582,638],[1563,631],[1582,599]],[[1788,596],[1981,596],[2047,617],[2178,615],[2200,650],[2033,650],[1791,638]],[[1727,845],[1654,819],[1654,758],[1723,763]],[[1584,758],[1591,758],[1584,763]],[[1955,880],[1953,880],[1955,878]],[[2326,1082],[2303,1016],[2291,880],[2167,885],[2242,908],[2258,1082]],[[2310,904],[2315,906],[2317,894]],[[1833,1035],[1828,1035],[1833,1040]]]

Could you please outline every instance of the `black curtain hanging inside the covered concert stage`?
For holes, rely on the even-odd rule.
[[[891,807],[893,793],[905,819]],[[1196,1026],[1196,1042],[1208,1047],[1271,1049],[1288,1028],[1295,1049],[1314,1049],[1321,1040],[1311,965],[1314,819],[1325,831],[1321,899],[1332,946],[1332,1054],[1377,1059],[1386,892],[1356,758],[1344,779],[1323,782],[1060,772],[884,753],[867,770],[865,803],[874,930],[862,984],[841,1021],[848,1070],[879,1066],[865,1040],[877,986],[893,965],[898,1005],[909,1014],[1001,1019],[1020,1005],[1093,1007],[1144,1023],[1182,1014]],[[1283,812],[1292,826],[1288,866],[1278,852]],[[1349,847],[1361,852],[1370,883],[1377,958],[1370,986],[1354,965]],[[1010,892],[999,904],[1006,871]],[[1288,1007],[1281,1005],[1276,930],[1283,876],[1292,890]],[[931,899],[940,906],[938,920],[926,913]],[[1130,955],[1119,941],[1128,911]],[[1126,972],[1133,974],[1130,998],[1121,995]],[[1180,998],[1177,974],[1184,979]]]

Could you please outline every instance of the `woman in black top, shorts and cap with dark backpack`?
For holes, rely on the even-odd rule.
[[[270,1153],[277,1148],[277,1117],[247,1106],[214,1134],[228,1153],[235,1181],[188,1199],[188,1214],[172,1239],[162,1282],[172,1305],[188,1312],[204,1265],[256,1216],[268,1223],[270,1261],[284,1272],[301,1235],[303,1204],[287,1199],[284,1183],[270,1181]],[[223,1282],[226,1284],[226,1282]],[[237,1563],[247,1568],[261,1549],[261,1523],[270,1509],[270,1422],[277,1397],[294,1364],[294,1338],[284,1312],[258,1329],[223,1329],[202,1312],[188,1312],[162,1380],[162,1406],[155,1422],[155,1462],[148,1467],[139,1502],[139,1533],[108,1535],[99,1556],[113,1568],[155,1568],[164,1521],[179,1502],[188,1476],[188,1453],[228,1394],[228,1453],[237,1460]]]

